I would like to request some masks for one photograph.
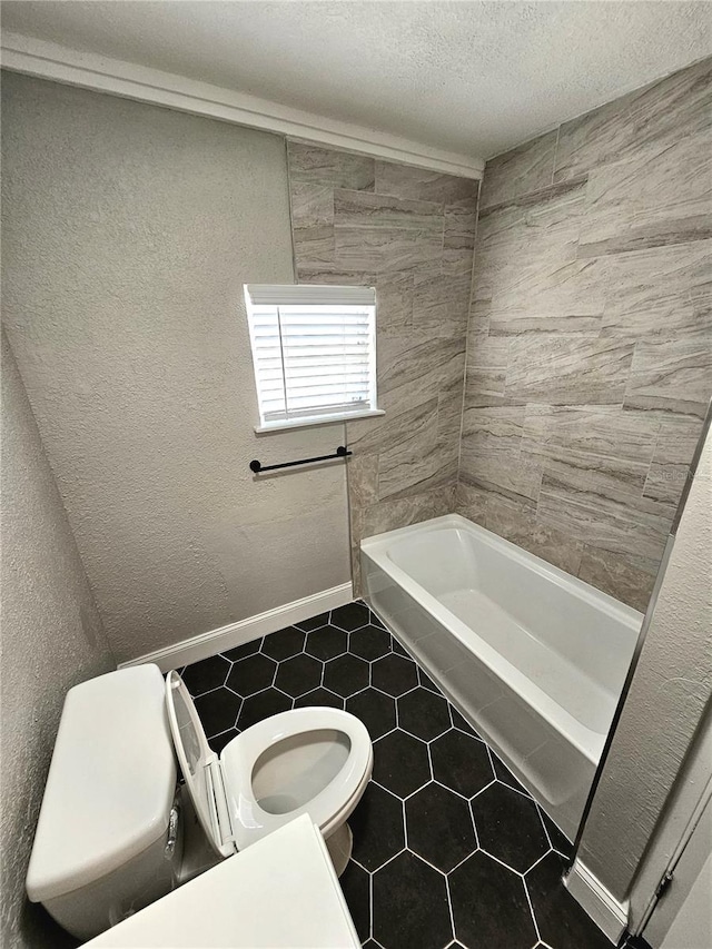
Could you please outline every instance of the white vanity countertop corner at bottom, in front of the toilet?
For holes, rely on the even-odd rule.
[[[358,949],[322,834],[304,814],[86,943]]]

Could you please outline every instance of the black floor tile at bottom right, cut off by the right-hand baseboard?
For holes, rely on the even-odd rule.
[[[540,936],[552,949],[611,949],[611,943],[562,882],[566,861],[548,853],[526,874]]]

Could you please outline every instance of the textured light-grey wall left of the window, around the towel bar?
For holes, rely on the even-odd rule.
[[[119,661],[349,579],[342,426],[257,438],[244,283],[291,283],[284,141],[3,79],[8,334]]]

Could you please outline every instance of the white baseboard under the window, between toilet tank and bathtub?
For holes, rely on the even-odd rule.
[[[225,652],[225,650],[234,649],[251,640],[258,640],[269,633],[276,633],[277,630],[300,623],[319,613],[326,613],[327,610],[336,610],[337,606],[350,603],[353,599],[354,587],[350,581],[342,583],[339,586],[332,586],[330,590],[322,590],[319,593],[313,593],[301,600],[294,600],[283,606],[267,610],[266,613],[248,616],[247,620],[240,620],[238,623],[229,623],[227,626],[199,633],[189,640],[182,640],[174,645],[156,650],[156,652],[128,660],[128,662],[120,663],[119,669],[155,662],[160,666],[161,672],[168,672],[171,669],[188,665],[190,662],[207,659],[209,655],[215,655],[216,652]]]

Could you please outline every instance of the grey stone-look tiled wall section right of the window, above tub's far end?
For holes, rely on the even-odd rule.
[[[288,144],[299,283],[375,286],[382,418],[347,423],[362,536],[453,510],[478,181]]]

